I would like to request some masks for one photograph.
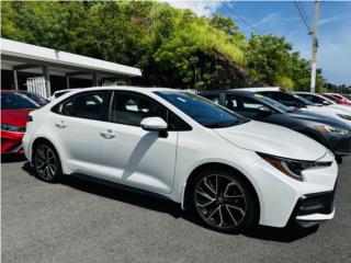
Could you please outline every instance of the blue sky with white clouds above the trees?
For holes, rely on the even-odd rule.
[[[220,13],[229,16],[248,37],[253,31],[285,36],[302,57],[312,58],[312,37],[293,1],[167,2],[174,8],[191,9],[197,15]],[[304,1],[304,5],[313,21],[314,2]],[[328,82],[351,85],[351,1],[321,1],[318,28],[317,67],[322,69]]]

